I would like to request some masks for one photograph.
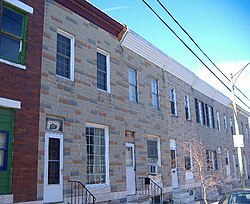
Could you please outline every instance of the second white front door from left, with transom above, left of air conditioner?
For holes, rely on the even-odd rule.
[[[135,194],[135,146],[126,143],[126,183],[127,194]]]

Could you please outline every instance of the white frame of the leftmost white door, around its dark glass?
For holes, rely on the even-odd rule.
[[[60,163],[59,163],[59,184],[48,184],[48,159],[49,159],[49,139],[60,140]],[[43,188],[43,201],[61,202],[63,201],[63,134],[55,132],[45,133],[45,155],[44,155],[44,188]]]

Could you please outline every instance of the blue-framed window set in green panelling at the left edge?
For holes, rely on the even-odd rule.
[[[0,171],[7,169],[8,141],[8,134],[0,132]]]

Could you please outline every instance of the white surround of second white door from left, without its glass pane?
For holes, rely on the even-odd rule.
[[[131,164],[127,164],[127,155],[126,155],[126,186],[127,186],[127,194],[133,195],[136,193],[136,182],[135,182],[135,145],[133,143],[126,143],[125,145],[126,151],[127,148],[132,148],[132,166]],[[127,154],[127,152],[126,152]],[[128,166],[129,165],[129,166]]]

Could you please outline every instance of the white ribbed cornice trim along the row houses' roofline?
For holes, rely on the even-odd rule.
[[[125,32],[122,36],[120,45],[149,60],[166,72],[171,73],[211,99],[218,101],[226,107],[230,105],[231,100],[228,97],[217,91],[207,82],[201,80],[189,69],[176,62],[174,59],[143,39],[134,31],[127,29],[127,32]],[[250,115],[247,111],[245,112]]]

